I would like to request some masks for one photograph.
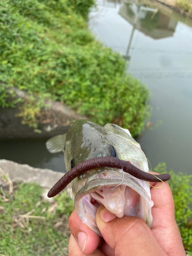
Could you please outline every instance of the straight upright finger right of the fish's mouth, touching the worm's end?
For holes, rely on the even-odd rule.
[[[175,206],[172,191],[167,182],[161,188],[156,188],[159,183],[151,189],[153,222],[151,230],[160,246],[168,255],[186,255],[175,220]]]

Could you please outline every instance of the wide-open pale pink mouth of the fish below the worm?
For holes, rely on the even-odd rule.
[[[95,175],[90,175],[86,184],[76,194],[74,203],[78,216],[99,236],[101,233],[95,222],[95,214],[100,205],[104,205],[118,218],[124,215],[138,217],[151,227],[153,201],[149,185],[130,176],[125,174],[122,184],[113,187],[122,180],[118,170],[105,169],[102,173],[95,170]]]

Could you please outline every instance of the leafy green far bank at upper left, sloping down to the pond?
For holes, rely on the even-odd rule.
[[[104,124],[141,133],[149,92],[126,74],[126,62],[103,47],[87,28],[93,0],[8,0],[0,3],[0,106],[8,88],[31,93],[20,109],[23,123],[37,127],[47,98],[65,102]]]

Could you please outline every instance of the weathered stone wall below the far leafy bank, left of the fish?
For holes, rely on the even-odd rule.
[[[1,82],[0,82],[1,87]],[[22,124],[22,118],[17,115],[20,107],[27,102],[27,92],[14,89],[14,99],[22,98],[24,103],[18,102],[16,108],[0,108],[0,139],[14,138],[51,138],[59,134],[65,134],[70,129],[70,122],[78,119],[88,119],[71,110],[62,102],[47,101],[49,107],[42,108],[37,117],[37,130]],[[10,97],[11,101],[12,98]],[[37,132],[38,131],[38,132]]]

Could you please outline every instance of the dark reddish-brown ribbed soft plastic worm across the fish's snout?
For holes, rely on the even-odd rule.
[[[139,168],[131,164],[129,161],[120,160],[116,157],[98,157],[79,163],[71,170],[69,170],[69,172],[63,175],[62,178],[60,178],[60,180],[58,180],[57,183],[55,183],[55,185],[49,190],[48,197],[56,196],[73,179],[83,174],[87,170],[98,167],[111,167],[117,169],[122,168],[125,173],[129,173],[132,176],[144,181],[161,182],[170,179],[169,174],[161,174],[154,176],[150,173],[143,172],[143,170],[140,170]]]

